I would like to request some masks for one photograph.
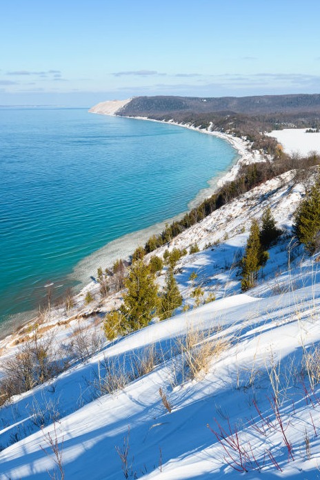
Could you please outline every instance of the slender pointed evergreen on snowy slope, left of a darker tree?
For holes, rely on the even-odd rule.
[[[259,223],[252,220],[246,252],[242,259],[241,289],[243,292],[254,287],[259,269],[268,260],[268,252],[264,252],[260,242]]]

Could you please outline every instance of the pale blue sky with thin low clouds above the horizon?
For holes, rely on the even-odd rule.
[[[319,0],[0,0],[0,106],[319,93]]]

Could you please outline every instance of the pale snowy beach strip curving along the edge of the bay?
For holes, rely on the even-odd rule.
[[[94,112],[95,113],[95,112]],[[121,117],[117,114],[110,114],[110,113],[97,113],[97,114],[104,114],[112,117]],[[90,273],[92,274],[92,270],[94,270],[94,273],[97,271],[97,268],[101,266],[103,269],[106,267],[112,266],[112,263],[114,262],[115,259],[121,258],[128,259],[130,254],[134,251],[134,248],[137,248],[137,246],[140,246],[141,243],[146,243],[148,238],[152,234],[159,233],[163,228],[166,226],[166,223],[172,223],[172,221],[175,221],[177,219],[180,219],[183,217],[186,212],[192,210],[195,206],[199,205],[201,201],[204,199],[210,197],[220,186],[223,185],[223,183],[226,183],[227,181],[232,181],[236,176],[237,173],[239,172],[239,168],[243,164],[246,163],[252,163],[254,161],[261,161],[261,155],[259,152],[255,154],[254,152],[250,151],[248,149],[248,141],[244,139],[240,139],[239,137],[233,137],[231,134],[226,134],[222,132],[217,132],[217,131],[211,131],[211,130],[206,130],[206,129],[201,129],[201,128],[195,128],[193,126],[190,126],[190,124],[183,124],[183,123],[177,123],[174,121],[161,121],[161,120],[154,120],[154,119],[148,119],[145,117],[123,117],[123,118],[128,118],[128,119],[136,119],[136,120],[143,120],[143,121],[155,121],[158,123],[168,123],[173,126],[179,126],[181,128],[187,128],[188,130],[193,130],[195,132],[203,133],[203,134],[210,134],[214,137],[223,139],[225,141],[228,141],[228,143],[231,143],[232,147],[234,150],[237,152],[236,158],[232,163],[228,166],[226,170],[223,170],[220,174],[211,177],[208,179],[208,187],[201,188],[199,192],[197,193],[196,197],[194,199],[190,200],[188,202],[188,210],[185,212],[181,212],[180,214],[175,215],[174,217],[170,217],[169,219],[165,219],[159,223],[155,223],[154,225],[147,227],[143,230],[137,230],[135,232],[123,235],[122,237],[119,237],[118,239],[114,239],[113,241],[110,241],[109,243],[106,244],[106,246],[103,246],[102,248],[99,248],[96,252],[93,252],[90,254],[88,257],[85,257],[81,261],[77,263],[76,266],[74,266],[72,272],[68,275],[70,279],[72,280],[77,280],[80,283],[79,290],[77,290],[74,293],[74,297],[78,297],[83,295],[83,292],[88,292],[88,290],[92,289],[94,286],[93,281],[88,281],[90,278]],[[122,243],[121,248],[119,249],[119,243]],[[120,253],[119,253],[120,250]],[[107,254],[106,254],[107,252]],[[116,254],[114,254],[116,252]],[[105,259],[105,264],[103,264],[103,261],[100,261],[100,259]],[[107,259],[107,261],[106,261]],[[93,268],[94,265],[94,268]],[[91,270],[91,271],[90,271]],[[17,317],[28,317],[28,319],[23,319],[19,321]],[[29,312],[19,312],[17,316],[15,316],[15,319],[9,319],[8,322],[3,323],[4,325],[8,325],[8,327],[4,327],[3,334],[0,334],[0,341],[3,341],[6,339],[6,337],[11,336],[14,334],[15,331],[27,326],[30,323],[33,323],[34,321],[37,320],[37,310],[31,310]]]

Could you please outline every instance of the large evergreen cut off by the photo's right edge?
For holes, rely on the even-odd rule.
[[[320,246],[320,176],[310,194],[301,201],[294,219],[294,230],[310,254]]]

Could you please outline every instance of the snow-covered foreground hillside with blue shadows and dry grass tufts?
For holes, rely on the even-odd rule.
[[[106,342],[103,314],[119,305],[121,291],[101,303],[92,283],[68,313],[51,312],[3,341],[4,362],[34,332],[41,340],[54,332],[53,350],[68,357],[79,329],[86,332],[83,361],[1,408],[1,480],[46,479],[47,470],[79,480],[238,479],[246,471],[252,479],[317,478],[319,263],[291,241],[304,192],[286,172],[155,252],[197,242],[199,252],[174,270],[187,312]],[[266,206],[283,234],[257,286],[243,294],[239,259],[250,219]],[[88,290],[97,300],[85,306]],[[210,293],[216,300],[203,303]]]

